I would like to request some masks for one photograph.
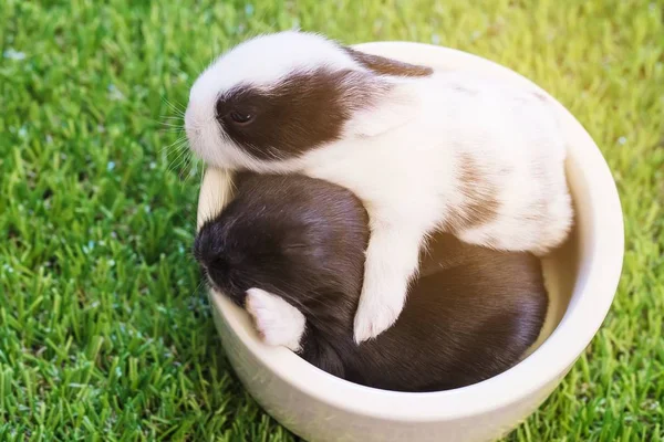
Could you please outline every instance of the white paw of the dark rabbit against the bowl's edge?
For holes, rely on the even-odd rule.
[[[266,344],[300,351],[300,340],[304,336],[307,319],[299,309],[282,297],[260,288],[247,291],[246,306]]]

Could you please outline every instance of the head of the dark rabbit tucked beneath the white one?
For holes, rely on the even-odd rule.
[[[304,308],[329,293],[356,301],[369,229],[349,190],[252,172],[238,173],[236,186],[235,199],[196,235],[194,255],[210,285],[239,305],[252,287]]]

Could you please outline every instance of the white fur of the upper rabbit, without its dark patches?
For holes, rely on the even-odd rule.
[[[288,66],[352,63],[324,39],[319,39],[320,44],[313,44],[315,36],[308,34],[273,39],[247,46],[251,51],[231,52],[228,60],[235,65],[221,57],[206,71],[197,81],[205,90],[195,86],[187,115],[214,113],[214,106],[210,110],[201,103],[204,96],[221,94],[231,83],[219,80],[221,72],[228,70],[229,77],[245,80],[256,57],[283,57],[270,74],[260,74],[268,88],[269,75],[274,82]],[[276,44],[283,39],[291,45],[280,50]],[[297,48],[294,55],[291,48]],[[311,51],[309,57],[304,51]],[[355,316],[357,343],[377,336],[396,320],[408,282],[417,272],[423,241],[468,202],[459,179],[463,158],[480,168],[481,180],[474,190],[497,192],[500,204],[494,221],[457,232],[461,240],[543,254],[567,238],[572,221],[564,140],[543,96],[469,72],[407,80],[376,75],[376,81],[392,82],[391,95],[371,110],[356,112],[344,127],[343,139],[301,158],[256,160],[225,139],[214,123],[197,123],[200,134],[214,135],[190,137],[193,149],[212,165],[301,171],[346,187],[363,200],[372,234]]]

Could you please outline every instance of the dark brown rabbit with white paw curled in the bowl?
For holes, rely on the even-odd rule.
[[[203,223],[194,254],[266,344],[367,387],[464,387],[510,368],[538,338],[548,306],[539,260],[437,233],[395,325],[357,345],[369,238],[367,212],[347,189],[243,172],[231,202]]]

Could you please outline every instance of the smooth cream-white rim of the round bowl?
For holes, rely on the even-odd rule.
[[[452,420],[501,409],[538,393],[547,385],[562,379],[581,356],[602,326],[618,288],[623,265],[624,227],[618,189],[606,161],[567,108],[531,81],[500,64],[459,50],[417,42],[380,41],[355,48],[394,53],[395,57],[401,52],[439,60],[456,59],[461,65],[475,64],[490,71],[491,75],[507,75],[506,78],[526,82],[559,107],[568,136],[574,140],[574,148],[568,155],[568,166],[577,170],[570,177],[570,187],[587,219],[584,231],[579,232],[580,253],[584,259],[580,262],[572,302],[564,317],[537,350],[500,375],[454,390],[398,392],[352,383],[320,370],[286,348],[263,345],[250,330],[248,320],[236,314],[237,307],[210,291],[212,307],[246,349],[273,375],[310,397],[356,414],[402,422]],[[222,175],[225,171],[208,169],[205,178],[210,173]],[[200,214],[211,203],[205,186],[204,180],[199,224]]]

